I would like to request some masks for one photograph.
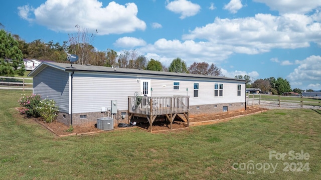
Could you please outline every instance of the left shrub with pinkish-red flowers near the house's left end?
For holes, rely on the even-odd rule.
[[[22,97],[18,100],[20,106],[25,107],[20,110],[20,113],[26,114],[29,117],[39,117],[40,113],[36,109],[39,105],[41,96],[38,94],[26,95],[21,94]]]

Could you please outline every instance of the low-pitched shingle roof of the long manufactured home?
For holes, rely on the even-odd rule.
[[[28,76],[36,76],[45,67],[50,66],[53,68],[60,69],[62,71],[79,71],[79,72],[98,72],[98,73],[122,73],[122,74],[140,74],[140,75],[162,75],[162,76],[177,76],[177,77],[194,77],[194,78],[209,78],[209,79],[220,79],[220,80],[233,80],[240,82],[247,82],[247,80],[235,79],[223,76],[214,75],[202,75],[202,74],[190,74],[190,73],[177,73],[177,72],[166,72],[166,71],[154,71],[154,70],[142,70],[142,69],[131,69],[131,68],[113,68],[106,66],[97,65],[82,65],[82,64],[72,64],[70,63],[60,63],[60,62],[42,62],[33,71],[31,71]]]

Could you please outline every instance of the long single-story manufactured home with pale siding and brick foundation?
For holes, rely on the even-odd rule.
[[[247,81],[222,76],[80,64],[71,68],[58,62],[43,62],[29,76],[33,76],[33,93],[54,99],[59,106],[58,121],[67,125],[95,122],[103,116],[102,107],[115,108],[113,105],[117,108],[113,118],[123,115],[118,122],[127,123],[128,116],[132,117],[128,109],[135,108],[129,105],[129,96],[135,100],[136,95],[189,97],[185,105],[192,115],[246,108]],[[163,100],[154,106],[167,109],[175,103],[181,101]]]

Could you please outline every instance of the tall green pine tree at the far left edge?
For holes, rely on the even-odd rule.
[[[19,43],[4,29],[0,30],[0,75],[24,75],[26,71]]]

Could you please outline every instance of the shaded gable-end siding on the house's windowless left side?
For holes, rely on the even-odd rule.
[[[69,73],[46,67],[34,76],[34,94],[54,99],[60,112],[69,112]]]

